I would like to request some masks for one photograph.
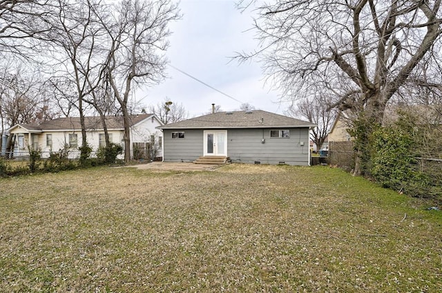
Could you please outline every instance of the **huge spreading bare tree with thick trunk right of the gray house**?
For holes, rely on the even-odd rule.
[[[414,81],[423,64],[440,79],[441,1],[240,1],[257,7],[256,52],[274,85],[296,99],[315,84],[334,96],[330,108],[357,113],[355,174],[368,171],[367,146],[387,103]],[[439,68],[439,70],[438,70]],[[430,73],[428,72],[428,73]],[[438,81],[440,83],[440,80]]]

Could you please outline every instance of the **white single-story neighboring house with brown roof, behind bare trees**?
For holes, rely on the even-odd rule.
[[[155,129],[163,123],[154,114],[131,115],[131,157],[134,143],[154,143],[158,150],[156,156],[162,156],[162,132]],[[99,117],[85,117],[86,139],[95,152],[105,145],[104,130]],[[106,117],[109,139],[124,148],[123,117]],[[41,156],[48,158],[51,152],[58,152],[68,145],[70,158],[79,157],[81,146],[81,125],[79,117],[57,118],[39,125],[17,124],[8,130],[15,135],[14,156],[29,156],[29,148],[41,151]],[[123,152],[124,153],[124,152]]]

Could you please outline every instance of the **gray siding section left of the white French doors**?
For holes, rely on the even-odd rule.
[[[172,132],[183,132],[184,139],[172,139]],[[203,154],[202,130],[164,130],[165,162],[193,162]]]

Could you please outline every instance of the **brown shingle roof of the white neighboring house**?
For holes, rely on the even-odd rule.
[[[131,126],[140,123],[144,119],[155,117],[154,114],[137,114],[131,115]],[[156,118],[156,117],[155,117]],[[157,119],[157,121],[160,121]],[[84,117],[84,123],[86,125],[86,130],[102,130],[103,125],[99,117]],[[161,122],[160,122],[161,123]],[[122,116],[106,116],[106,125],[108,129],[123,129],[123,117]],[[40,125],[35,124],[17,124],[12,126],[10,130],[20,126],[25,128],[30,132],[41,132],[50,130],[81,130],[80,117],[61,117],[57,119],[52,119],[50,121],[45,121]]]

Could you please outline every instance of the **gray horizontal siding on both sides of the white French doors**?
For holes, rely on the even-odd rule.
[[[278,128],[279,129],[279,128]],[[289,138],[271,138],[269,129],[228,129],[227,156],[237,163],[309,165],[309,128],[290,130]],[[223,130],[223,129],[220,129]],[[184,139],[171,132],[184,131]],[[194,161],[204,153],[204,130],[164,130],[164,161]],[[262,143],[262,138],[265,143]],[[304,145],[301,145],[301,143]]]

